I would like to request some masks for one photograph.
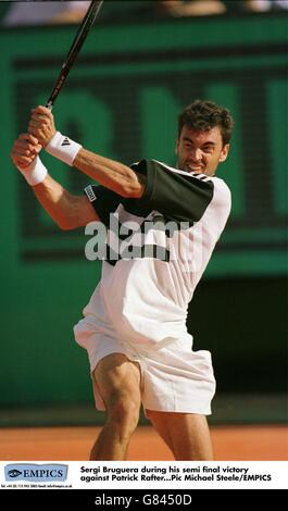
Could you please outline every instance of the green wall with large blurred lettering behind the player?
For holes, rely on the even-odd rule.
[[[9,152],[45,103],[75,26],[0,32],[0,404],[91,399],[72,327],[99,278],[82,229],[63,233],[38,207]],[[287,17],[280,14],[104,22],[89,35],[58,99],[61,132],[132,163],[174,163],[178,110],[227,105],[236,129],[220,171],[233,190],[226,232],[199,285],[188,327],[211,349],[220,391],[286,388]],[[88,182],[43,154],[73,192]]]

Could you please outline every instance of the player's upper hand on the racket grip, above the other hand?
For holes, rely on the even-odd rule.
[[[32,109],[28,132],[38,139],[42,147],[46,147],[57,133],[52,112],[46,107]]]

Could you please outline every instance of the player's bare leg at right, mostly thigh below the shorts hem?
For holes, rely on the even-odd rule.
[[[213,460],[213,448],[205,415],[146,410],[156,432],[176,460]]]

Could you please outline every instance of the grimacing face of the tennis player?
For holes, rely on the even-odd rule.
[[[223,146],[218,126],[208,132],[195,132],[183,126],[176,142],[178,169],[213,176],[218,163],[226,160],[228,151],[229,145]]]

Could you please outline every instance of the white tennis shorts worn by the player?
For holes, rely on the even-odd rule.
[[[187,331],[173,342],[145,349],[140,342],[121,338],[109,319],[97,314],[97,320],[93,315],[80,320],[74,334],[77,344],[88,352],[91,372],[100,360],[112,353],[123,353],[138,362],[145,410],[211,414],[215,392],[211,353],[192,351],[192,336]],[[95,399],[98,410],[104,410],[101,396],[97,394]]]

